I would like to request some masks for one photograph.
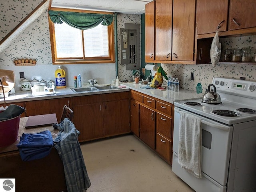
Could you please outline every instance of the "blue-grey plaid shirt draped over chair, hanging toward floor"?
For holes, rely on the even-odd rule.
[[[63,162],[68,192],[85,192],[91,186],[91,182],[78,142],[80,132],[68,118],[53,126],[60,130],[54,140],[54,147]]]

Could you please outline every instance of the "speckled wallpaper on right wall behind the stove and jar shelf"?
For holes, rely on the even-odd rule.
[[[238,36],[231,38],[220,38],[222,46],[223,60],[224,50],[231,48],[250,48],[252,58],[256,53],[256,35]],[[245,77],[246,80],[256,81],[256,63],[255,64],[223,64],[218,63],[215,67],[212,64],[162,64],[165,72],[171,76],[176,76],[180,80],[180,86],[184,89],[196,91],[196,85],[200,82],[203,92],[208,85],[212,83],[212,78],[216,76],[239,79]],[[194,72],[194,80],[190,80],[190,73]]]

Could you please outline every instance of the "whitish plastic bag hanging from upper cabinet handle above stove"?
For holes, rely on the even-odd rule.
[[[216,31],[216,34],[212,40],[212,45],[210,49],[210,58],[211,58],[213,67],[215,67],[216,64],[219,62],[220,55],[221,55],[221,44],[218,36],[218,31]]]

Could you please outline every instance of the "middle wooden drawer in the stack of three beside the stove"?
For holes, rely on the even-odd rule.
[[[156,132],[172,140],[172,118],[163,114],[156,114]]]

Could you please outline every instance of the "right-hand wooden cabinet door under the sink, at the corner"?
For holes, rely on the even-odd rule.
[[[129,99],[104,102],[104,136],[130,132]]]

